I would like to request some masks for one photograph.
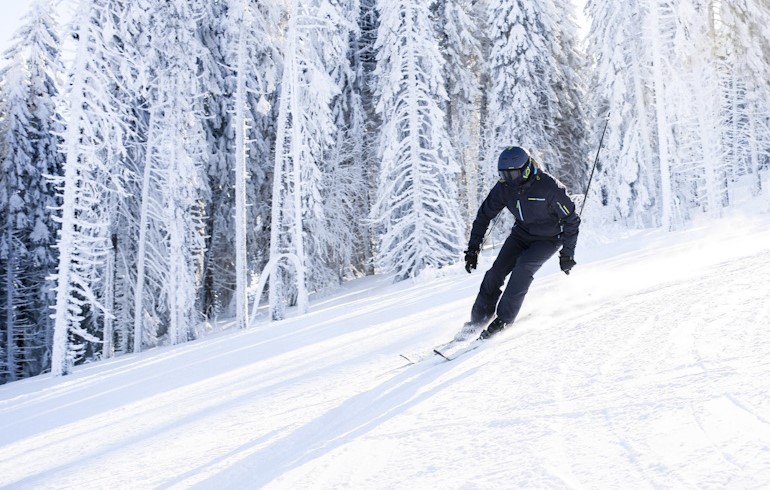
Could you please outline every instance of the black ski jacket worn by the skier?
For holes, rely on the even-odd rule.
[[[564,185],[546,172],[535,167],[532,176],[521,185],[512,185],[502,179],[497,182],[473,221],[469,249],[481,247],[489,222],[503,208],[513,214],[514,228],[534,238],[559,240],[561,255],[575,255],[580,216]]]

